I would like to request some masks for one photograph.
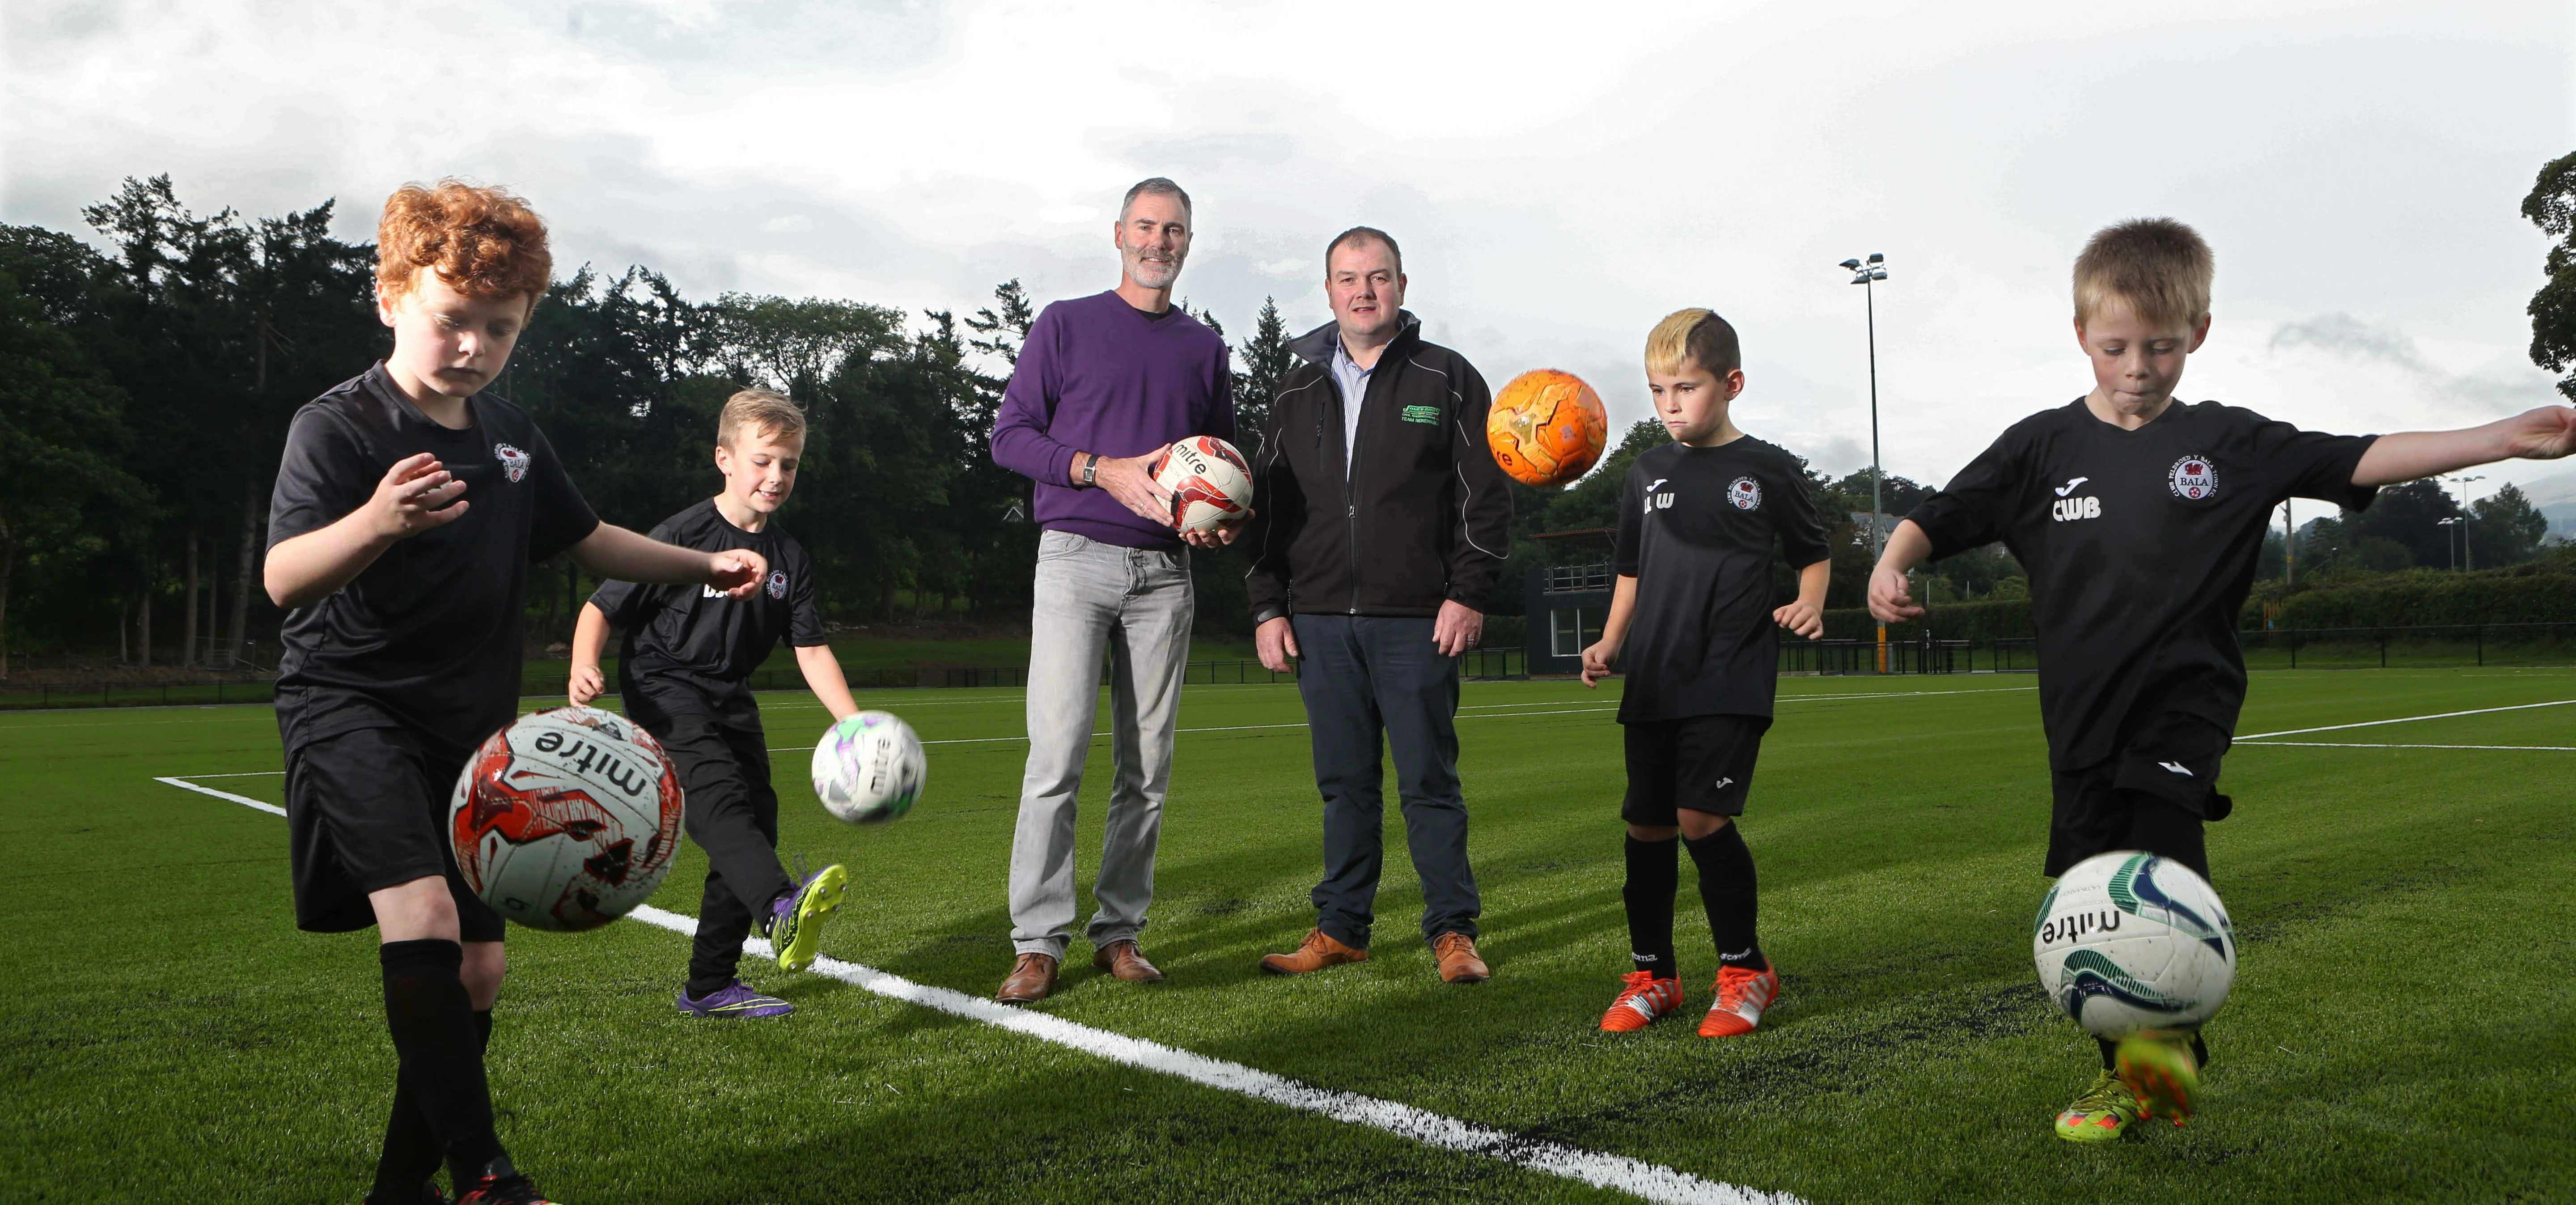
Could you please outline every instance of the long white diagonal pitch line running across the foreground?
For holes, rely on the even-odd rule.
[[[201,775],[201,778],[214,778],[214,775]],[[155,783],[170,783],[183,790],[224,798],[245,808],[260,808],[276,816],[286,814],[286,808],[276,803],[260,803],[255,798],[242,798],[229,790],[201,788],[196,783],[188,783],[185,778],[155,778]],[[698,935],[696,917],[665,911],[652,904],[634,909],[629,917],[644,924],[654,924],[659,929],[677,932],[683,937]],[[773,955],[768,937],[750,937],[742,942],[742,948],[757,958]],[[1321,1089],[1244,1063],[1208,1058],[1172,1045],[1149,1043],[1144,1038],[1128,1038],[1123,1032],[1095,1030],[1090,1025],[1069,1022],[1064,1017],[1048,1017],[1043,1012],[1010,1009],[989,999],[969,996],[963,991],[951,991],[943,986],[914,984],[904,976],[894,976],[873,966],[842,963],[840,958],[814,958],[814,973],[832,976],[860,991],[873,991],[886,999],[920,1004],[925,1009],[938,1009],[953,1017],[979,1020],[984,1025],[994,1025],[1025,1038],[1038,1038],[1041,1043],[1056,1043],[1082,1051],[1087,1056],[1108,1058],[1113,1063],[1126,1063],[1141,1071],[1159,1071],[1167,1076],[1188,1079],[1193,1084],[1206,1084],[1242,1097],[1265,1099],[1270,1105],[1285,1105],[1301,1112],[1316,1112],[1350,1125],[1368,1125],[1373,1130],[1386,1130],[1396,1138],[1412,1138],[1422,1146],[1437,1146],[1443,1151],[1497,1159],[1512,1166],[1525,1166],[1530,1172],[1579,1179],[1592,1187],[1625,1192],[1631,1197],[1654,1200],[1662,1205],[1803,1205],[1798,1197],[1790,1197],[1788,1192],[1762,1192],[1739,1184],[1726,1184],[1721,1179],[1700,1179],[1692,1177],[1690,1172],[1674,1172],[1669,1166],[1649,1164],[1643,1159],[1584,1151],[1579,1146],[1566,1146],[1548,1138],[1522,1138],[1510,1130],[1497,1130],[1492,1125],[1476,1125],[1440,1112],[1417,1110],[1412,1105],[1399,1105],[1394,1099],[1363,1097],[1358,1092]]]

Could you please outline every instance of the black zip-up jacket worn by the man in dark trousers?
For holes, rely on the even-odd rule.
[[[1252,623],[1275,615],[1437,615],[1484,610],[1512,548],[1512,492],[1484,445],[1494,404],[1476,366],[1404,312],[1360,399],[1360,448],[1342,471],[1342,389],[1332,322],[1288,342],[1296,368],[1270,402],[1252,463],[1244,587]]]

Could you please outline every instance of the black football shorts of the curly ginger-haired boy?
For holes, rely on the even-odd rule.
[[[459,940],[497,942],[502,919],[466,891],[446,837],[464,760],[430,754],[404,729],[358,729],[286,757],[286,832],[296,927],[355,932],[376,924],[371,891],[443,875]]]

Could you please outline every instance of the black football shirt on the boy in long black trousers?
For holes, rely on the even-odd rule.
[[[742,530],[706,500],[662,520],[652,538],[698,551],[757,551],[770,561],[770,579],[752,597],[696,584],[600,584],[590,602],[626,631],[618,657],[623,687],[680,680],[737,695],[781,639],[799,649],[827,644],[814,605],[814,561],[775,523]]]

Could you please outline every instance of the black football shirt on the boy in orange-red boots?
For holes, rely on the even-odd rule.
[[[1829,556],[1806,471],[1775,443],[1667,443],[1628,466],[1615,569],[1636,577],[1620,724],[1770,716],[1780,687],[1772,546]]]

